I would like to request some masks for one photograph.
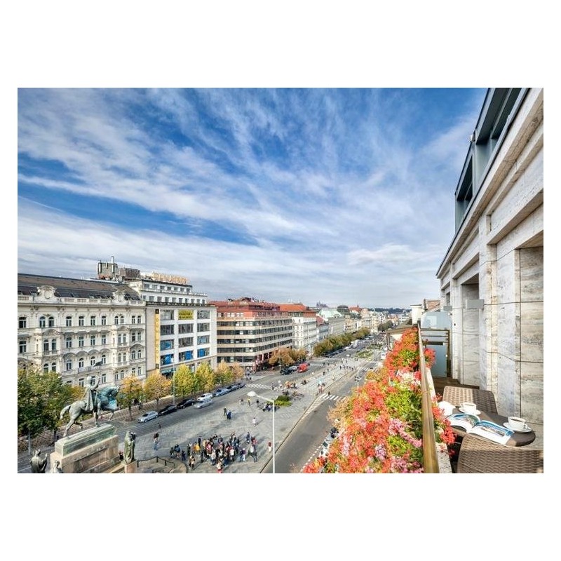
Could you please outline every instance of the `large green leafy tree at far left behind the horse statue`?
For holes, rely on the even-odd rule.
[[[27,436],[29,452],[31,439],[45,429],[52,430],[56,440],[60,411],[80,396],[81,388],[62,384],[56,372],[41,372],[36,367],[18,370],[18,435]]]

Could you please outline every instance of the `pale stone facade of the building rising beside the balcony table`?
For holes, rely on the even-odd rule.
[[[452,377],[543,423],[543,89],[487,91],[437,272]]]

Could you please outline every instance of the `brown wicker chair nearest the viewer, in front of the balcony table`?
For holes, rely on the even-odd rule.
[[[543,473],[543,450],[468,434],[461,441],[456,473]]]

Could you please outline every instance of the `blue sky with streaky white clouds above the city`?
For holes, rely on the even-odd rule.
[[[210,299],[438,297],[485,88],[20,88],[18,271]]]

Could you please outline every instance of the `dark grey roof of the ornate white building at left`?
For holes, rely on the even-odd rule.
[[[140,300],[140,296],[128,285],[110,280],[65,278],[59,276],[29,275],[18,273],[18,294],[32,296],[39,286],[52,286],[55,296],[60,298],[101,298],[107,299],[121,290],[128,300]]]

